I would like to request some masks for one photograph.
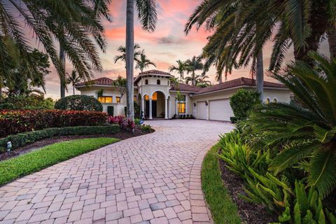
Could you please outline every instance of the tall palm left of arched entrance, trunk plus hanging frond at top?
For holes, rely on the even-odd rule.
[[[156,21],[155,0],[135,0],[142,29],[154,31]],[[134,0],[127,0],[126,6],[126,78],[127,118],[134,119]]]

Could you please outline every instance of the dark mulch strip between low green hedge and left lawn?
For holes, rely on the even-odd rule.
[[[151,133],[153,132],[154,130],[152,130]],[[55,144],[60,141],[69,141],[73,139],[99,138],[99,137],[111,137],[111,138],[124,140],[124,139],[130,139],[132,137],[137,137],[137,136],[144,135],[144,134],[149,134],[149,133],[143,132],[139,127],[135,127],[134,134],[126,130],[120,130],[120,132],[117,134],[91,134],[91,135],[72,135],[72,136],[52,137],[49,139],[42,139],[40,141],[36,141],[32,144],[28,144],[27,146],[23,146],[21,148],[15,148],[15,151],[11,152],[10,154],[8,153],[0,154],[0,161],[8,160],[10,158],[17,157],[18,155],[29,153],[38,148],[42,148],[44,146]]]

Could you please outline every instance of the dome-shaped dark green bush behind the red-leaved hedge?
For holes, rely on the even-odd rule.
[[[59,99],[55,103],[55,109],[73,111],[103,111],[98,99],[86,95],[73,95]]]

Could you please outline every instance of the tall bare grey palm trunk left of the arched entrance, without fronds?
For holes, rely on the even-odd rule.
[[[126,7],[126,78],[127,118],[134,120],[134,0],[127,0]]]

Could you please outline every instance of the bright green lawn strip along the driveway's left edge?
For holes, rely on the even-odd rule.
[[[62,141],[45,146],[16,158],[0,162],[0,185],[19,177],[38,172],[59,162],[69,160],[78,155],[94,151],[97,148],[113,144],[119,139],[92,138]]]

